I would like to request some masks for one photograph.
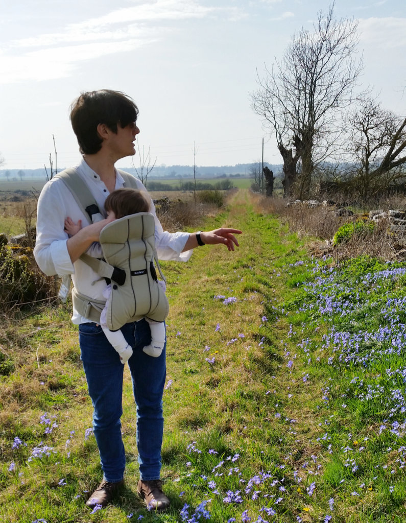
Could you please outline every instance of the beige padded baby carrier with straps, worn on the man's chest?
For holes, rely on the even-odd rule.
[[[126,186],[138,188],[133,176],[119,172]],[[103,219],[90,190],[74,169],[66,169],[57,176],[70,189],[92,222]],[[157,259],[154,233],[155,221],[151,213],[131,214],[108,223],[101,230],[100,245],[104,259],[87,254],[80,257],[101,278],[111,280],[107,310],[107,326],[111,331],[144,316],[162,322],[168,314],[168,300],[157,281],[154,266],[155,262],[165,281]],[[62,298],[69,292],[68,278],[69,282],[66,277],[62,280]],[[104,301],[89,298],[75,288],[72,289],[72,301],[82,316],[96,323],[100,321],[100,312],[106,304]]]

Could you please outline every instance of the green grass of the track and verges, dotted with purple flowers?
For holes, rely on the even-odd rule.
[[[367,258],[341,270],[329,260],[316,264],[304,240],[276,217],[255,211],[247,191],[207,222],[208,228],[221,225],[244,231],[236,252],[205,246],[187,264],[162,262],[171,305],[162,476],[171,509],[148,513],[135,494],[136,414],[128,369],[126,488],[103,511],[90,514],[84,507],[101,472],[94,438],[85,439],[92,406],[77,329],[69,311],[58,308],[21,316],[0,332],[0,363],[12,361],[0,377],[1,520],[118,523],[143,516],[145,523],[178,522],[190,519],[202,502],[216,523],[241,521],[244,511],[252,522],[259,516],[278,523],[326,516],[340,523],[404,520],[399,448],[406,438],[403,428],[398,437],[391,433],[390,423],[402,422],[402,415],[391,416],[386,400],[394,386],[404,389],[405,358],[389,351],[368,366],[355,357],[339,364],[341,346],[326,344],[333,326],[355,335],[388,323],[388,297],[403,298],[404,277],[368,279],[386,265]],[[227,298],[231,303],[224,303]],[[324,302],[325,310],[338,304],[332,314],[321,312]],[[340,307],[350,305],[342,315]],[[397,307],[393,316],[401,322]],[[354,354],[369,357],[378,345],[362,339]],[[376,397],[364,401],[368,386]],[[41,423],[44,413],[48,425]],[[58,426],[44,434],[53,423]],[[382,424],[387,428],[378,434]],[[24,443],[13,449],[16,437]],[[40,445],[52,447],[50,455],[30,459]]]

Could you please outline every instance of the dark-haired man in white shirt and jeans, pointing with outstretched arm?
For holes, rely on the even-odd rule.
[[[71,106],[71,123],[76,134],[81,163],[75,167],[90,189],[98,209],[104,212],[104,201],[115,189],[123,187],[123,176],[116,170],[120,158],[136,153],[134,141],[138,108],[125,94],[102,89],[82,93]],[[139,180],[139,189],[146,191]],[[204,244],[222,243],[229,251],[238,245],[236,229],[217,229],[199,233],[168,233],[156,218],[151,197],[151,212],[155,218],[156,250],[160,259],[186,261],[193,248]],[[43,188],[38,200],[37,240],[34,256],[47,275],[72,275],[75,289],[94,301],[103,302],[105,281],[80,256],[99,240],[106,220],[84,227],[72,237],[64,231],[64,221],[89,223],[89,218],[58,176]],[[86,502],[88,507],[105,507],[123,484],[125,450],[121,439],[121,396],[123,365],[115,349],[108,343],[101,327],[74,303],[72,321],[79,325],[81,359],[89,395],[94,407],[93,429],[100,454],[103,481]],[[145,320],[122,327],[133,349],[128,360],[137,405],[137,447],[140,480],[137,492],[153,510],[165,510],[170,501],[162,492],[160,481],[161,446],[163,435],[162,394],[165,383],[165,349],[158,358],[142,351],[151,342]]]

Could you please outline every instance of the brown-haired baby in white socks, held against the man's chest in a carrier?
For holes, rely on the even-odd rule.
[[[123,188],[117,189],[109,194],[105,201],[105,210],[107,212],[107,222],[110,223],[119,218],[123,218],[130,214],[138,212],[149,212],[149,202],[146,200],[142,191],[137,189]],[[73,236],[82,229],[82,222],[79,220],[74,223],[71,218],[67,217],[65,220],[65,232]],[[93,243],[86,251],[86,254],[101,258],[103,252],[99,243]],[[165,283],[158,281],[165,291]],[[137,288],[134,289],[137,292]],[[132,348],[128,345],[125,337],[120,330],[110,331],[107,327],[107,306],[111,295],[111,285],[107,285],[103,292],[106,298],[106,305],[100,314],[100,326],[103,329],[109,343],[117,350],[121,363],[125,363],[132,355]],[[144,353],[155,358],[159,357],[165,345],[165,325],[163,322],[155,322],[150,318],[145,317],[151,328],[151,344],[144,347]]]

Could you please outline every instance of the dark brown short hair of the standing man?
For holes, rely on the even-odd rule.
[[[82,154],[96,154],[103,139],[97,132],[99,123],[104,123],[112,132],[117,126],[122,129],[137,121],[138,107],[124,93],[109,89],[81,93],[71,105],[73,132]]]

